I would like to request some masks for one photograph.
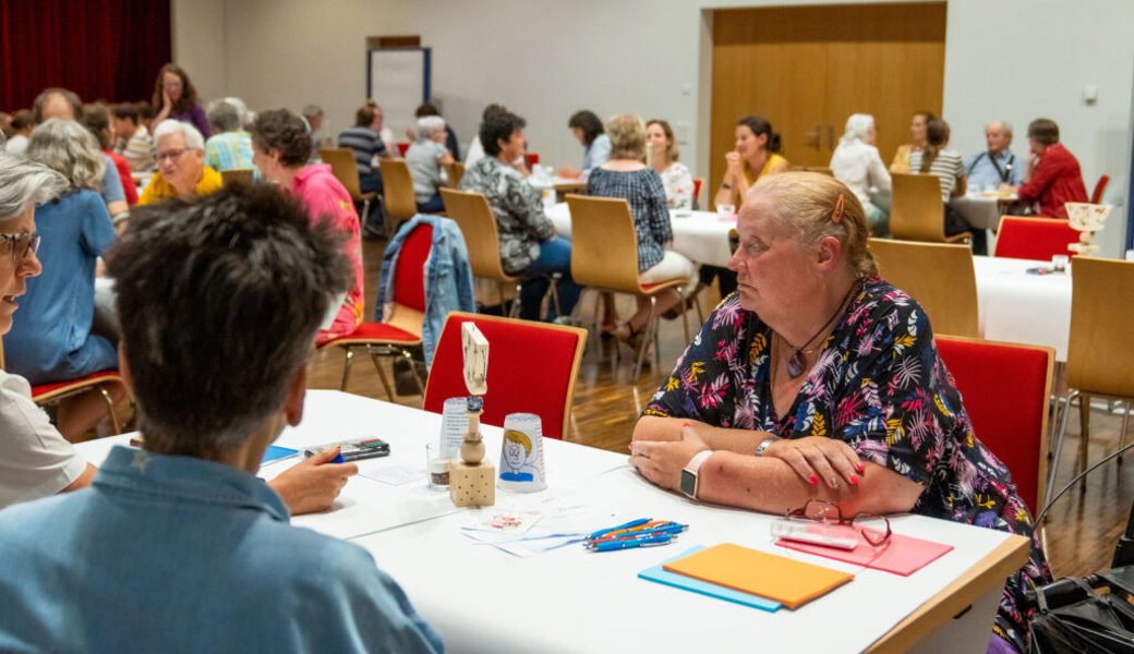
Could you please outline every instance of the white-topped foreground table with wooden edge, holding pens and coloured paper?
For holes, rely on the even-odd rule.
[[[1027,541],[1019,536],[895,516],[895,533],[954,549],[908,577],[839,563],[775,545],[773,516],[688,501],[638,477],[625,456],[553,440],[544,442],[548,490],[498,490],[496,509],[456,509],[448,493],[429,490],[424,479],[425,443],[438,438],[440,416],[325,390],[310,390],[304,409],[303,423],[285,430],[277,444],[297,448],[376,435],[390,442],[391,451],[359,462],[359,476],[349,481],[331,511],[293,523],[367,549],[437,627],[449,652],[687,652],[709,643],[722,651],[753,643],[797,652],[983,651],[1004,579],[1027,557]],[[502,430],[482,426],[482,433],[494,461]],[[78,448],[100,462],[112,444],[127,440],[113,436]],[[278,474],[289,460],[295,459],[264,466],[261,475]],[[373,478],[398,470],[417,474],[406,475],[411,481],[399,485]],[[460,533],[474,515],[557,501],[619,519],[649,516],[689,527],[666,547],[596,554],[570,544],[526,558]],[[776,612],[637,578],[638,571],[689,546],[721,542],[837,568],[855,578],[796,610]]]

